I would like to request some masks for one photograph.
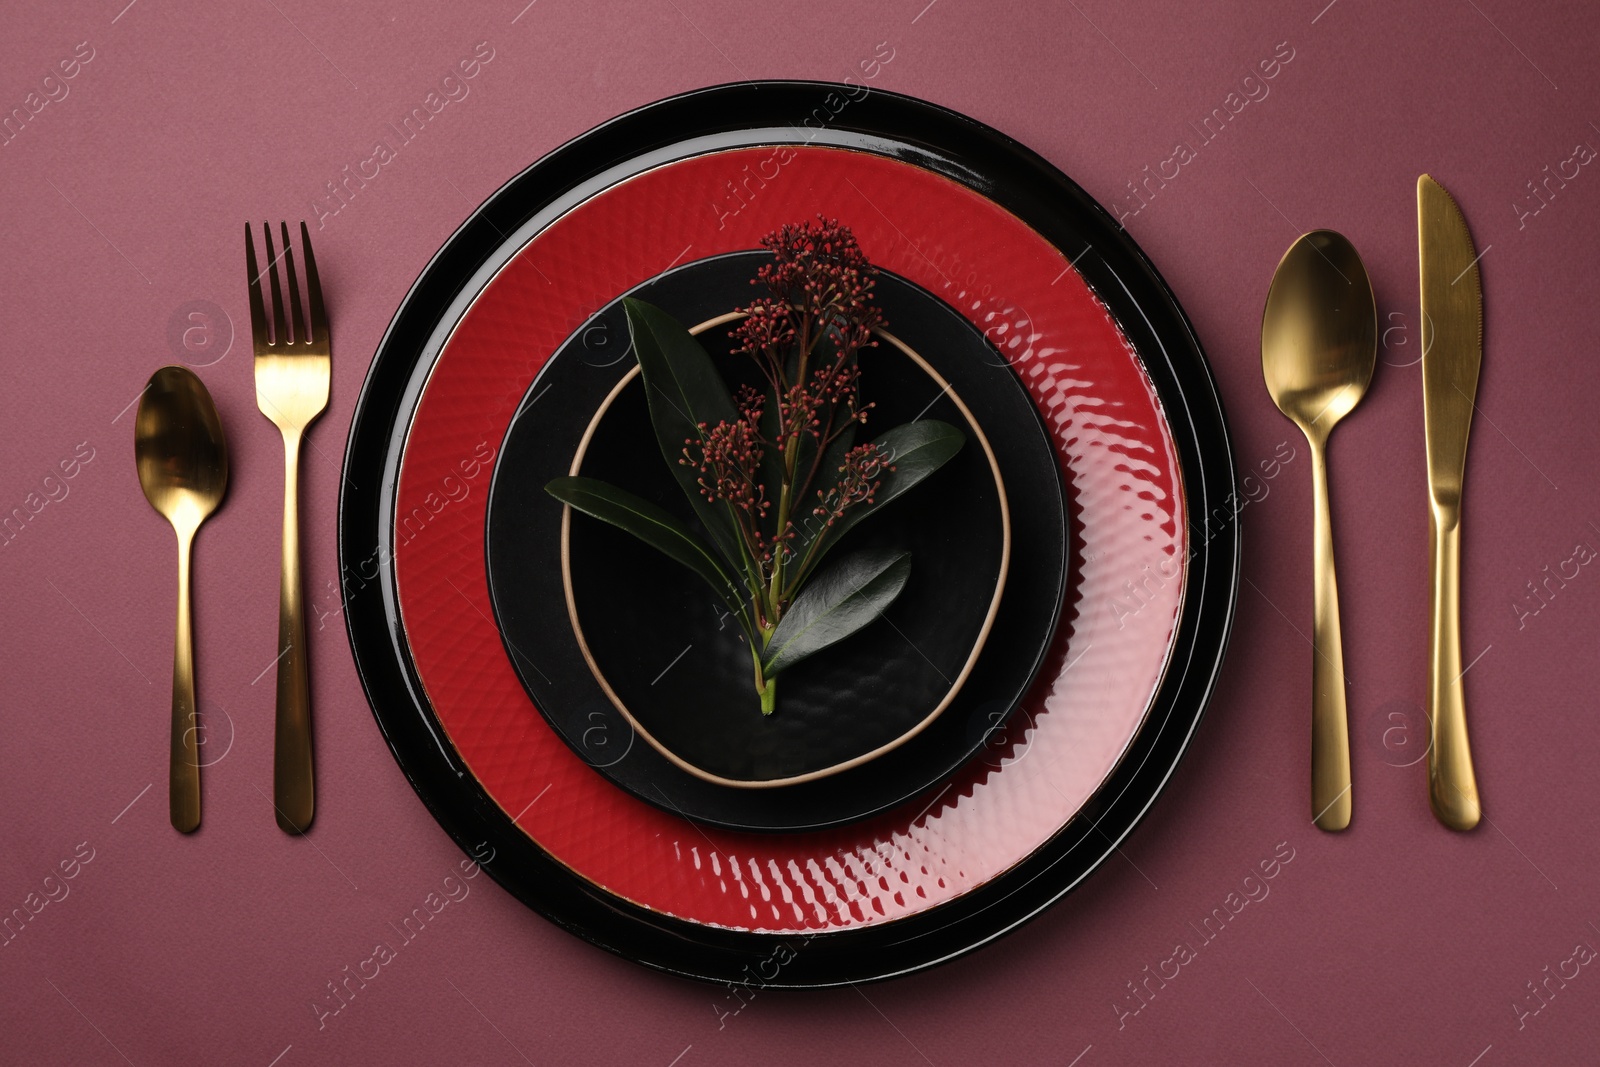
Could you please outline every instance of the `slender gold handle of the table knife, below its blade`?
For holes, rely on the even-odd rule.
[[[1478,824],[1478,782],[1467,744],[1461,670],[1461,510],[1429,509],[1432,619],[1429,624],[1427,798],[1451,830]]]

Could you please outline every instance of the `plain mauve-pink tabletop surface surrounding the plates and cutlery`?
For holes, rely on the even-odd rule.
[[[1574,957],[1581,942],[1600,947],[1600,805],[1568,785],[1600,739],[1587,699],[1600,573],[1552,579],[1542,606],[1520,598],[1579,542],[1600,549],[1586,395],[1600,373],[1581,315],[1600,282],[1600,178],[1552,179],[1536,214],[1526,187],[1574,146],[1600,147],[1595,16],[1504,0],[925,2],[114,0],[0,19],[6,112],[75,45],[93,48],[67,94],[0,144],[0,512],[61,498],[0,539],[0,913],[29,894],[37,907],[62,861],[93,856],[0,941],[0,1062],[1594,1059],[1594,968],[1552,977],[1546,1000],[1525,984],[1571,974],[1589,958]],[[314,832],[291,840],[267,801],[282,446],[254,406],[240,222],[315,219],[323,182],[478,42],[494,58],[470,94],[317,234],[336,323],[333,402],[302,475],[307,597],[325,616],[320,632],[312,622],[320,795]],[[989,122],[1130,211],[1125,182],[1198,142],[1189,123],[1242,93],[1280,42],[1293,48],[1267,94],[1253,90],[1125,219],[1211,355],[1242,474],[1282,442],[1298,456],[1245,509],[1232,654],[1190,755],[1082,891],[934,973],[765,992],[718,1029],[722,990],[590,949],[480,877],[318,1030],[309,1005],[325,984],[461,861],[381,742],[330,587],[344,434],[384,325],[470,208],[568,138],[701,85],[859,78],[880,42],[893,59],[870,85]],[[1467,214],[1488,307],[1462,574],[1488,817],[1469,835],[1434,822],[1419,765],[1395,766],[1421,752],[1426,681],[1421,171]],[[1362,250],[1389,330],[1373,390],[1333,443],[1355,758],[1355,825],[1341,837],[1307,811],[1309,467],[1256,346],[1272,267],[1317,226]],[[219,334],[174,347],[170,320],[190,301],[245,336],[226,354]],[[229,501],[195,560],[200,702],[216,728],[192,838],[165,811],[173,537],[138,491],[125,411],[181,357],[206,363],[234,450]],[[93,459],[46,485],[75,450]],[[1189,923],[1278,843],[1293,861],[1270,896],[1118,1019],[1118,1003],[1138,1003],[1126,982],[1198,941]]]

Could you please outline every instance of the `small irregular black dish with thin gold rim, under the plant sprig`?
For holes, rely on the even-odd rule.
[[[717,267],[734,274],[742,261]],[[731,355],[726,325],[701,342],[730,378],[754,370]],[[571,605],[590,667],[642,739],[691,774],[774,787],[848,769],[941,713],[982,651],[1005,587],[1010,518],[981,427],[960,411],[949,382],[885,341],[861,355],[861,394],[875,405],[862,438],[925,418],[960,427],[966,445],[824,558],[827,568],[851,552],[904,549],[910,579],[883,617],[786,670],[773,715],[760,713],[750,646],[712,590],[616,526],[573,515]],[[638,376],[597,416],[579,474],[693,522],[662,462]]]

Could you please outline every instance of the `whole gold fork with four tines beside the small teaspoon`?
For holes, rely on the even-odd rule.
[[[301,318],[299,282],[288,222],[283,227],[283,277],[290,288],[290,323],[283,323],[278,258],[272,226],[262,224],[267,267],[256,269],[256,243],[245,224],[245,266],[250,270],[250,336],[256,349],[256,406],[283,434],[283,581],[278,585],[278,701],[272,750],[272,806],[278,829],[304,833],[315,811],[310,758],[310,686],[306,673],[306,616],[299,573],[299,446],[306,427],[328,406],[328,315],[322,306],[310,232],[301,222],[306,250],[306,298],[310,331]],[[261,277],[272,286],[272,336],[261,299]]]

